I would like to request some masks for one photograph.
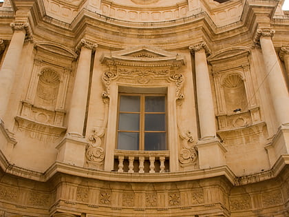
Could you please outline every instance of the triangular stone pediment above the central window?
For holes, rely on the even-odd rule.
[[[101,62],[109,65],[180,66],[184,65],[184,57],[158,48],[138,46],[103,54]]]

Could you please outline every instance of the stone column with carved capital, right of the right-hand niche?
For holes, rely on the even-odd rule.
[[[274,30],[257,30],[256,39],[259,39],[266,67],[266,75],[272,97],[273,107],[279,125],[289,125],[289,96],[281,66],[272,43]]]

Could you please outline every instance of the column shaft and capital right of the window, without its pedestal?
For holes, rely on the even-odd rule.
[[[195,54],[195,80],[197,85],[197,109],[200,119],[201,139],[214,138],[216,136],[215,111],[211,81],[208,75],[206,52],[209,52],[206,43],[198,43],[190,46]]]

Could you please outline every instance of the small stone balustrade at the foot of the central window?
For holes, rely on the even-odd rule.
[[[114,171],[140,174],[169,172],[169,151],[116,150]]]

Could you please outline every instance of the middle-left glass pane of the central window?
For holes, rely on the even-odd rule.
[[[139,130],[140,129],[140,114],[120,113],[118,130]]]

